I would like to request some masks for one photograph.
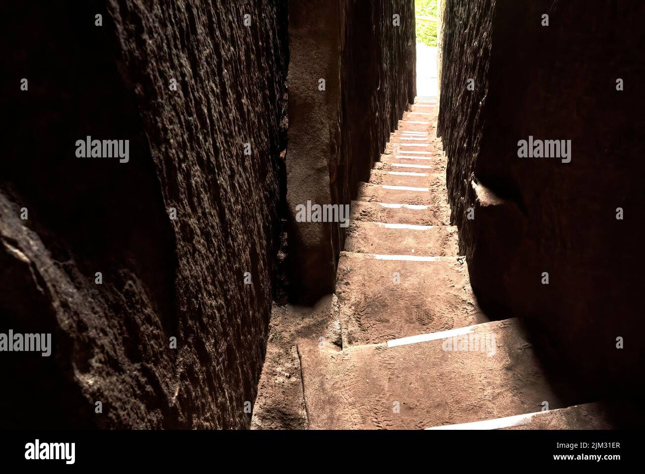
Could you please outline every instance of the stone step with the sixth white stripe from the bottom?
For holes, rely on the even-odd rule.
[[[359,183],[356,200],[368,202],[392,202],[395,204],[428,204],[447,206],[446,187],[443,175],[434,175],[429,187],[390,186],[388,184]]]

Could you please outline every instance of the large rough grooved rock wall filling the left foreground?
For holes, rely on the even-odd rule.
[[[284,199],[286,1],[11,10],[0,333],[54,341],[0,352],[3,427],[248,426]],[[77,157],[88,135],[129,140],[128,162]]]

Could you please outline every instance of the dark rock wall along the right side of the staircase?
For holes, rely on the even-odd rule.
[[[643,14],[552,0],[444,11],[440,133],[473,290],[489,316],[523,317],[588,394],[642,383]],[[570,154],[519,157],[530,137],[570,140]]]

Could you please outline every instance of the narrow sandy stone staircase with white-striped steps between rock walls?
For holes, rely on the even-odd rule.
[[[602,428],[594,404],[563,406],[516,320],[479,310],[450,225],[437,109],[417,98],[352,202],[342,348],[297,342],[308,428]]]

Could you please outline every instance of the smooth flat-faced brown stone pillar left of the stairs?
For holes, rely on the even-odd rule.
[[[337,223],[296,221],[297,206],[337,204],[330,166],[339,156],[339,21],[334,2],[289,2],[287,201],[292,291],[299,299],[330,293],[340,252]]]

